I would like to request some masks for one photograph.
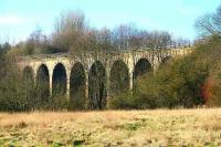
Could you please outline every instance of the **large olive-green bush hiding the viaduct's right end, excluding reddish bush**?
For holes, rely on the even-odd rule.
[[[198,53],[168,61],[154,75],[147,73],[135,82],[133,94],[109,101],[112,108],[194,107],[204,103],[202,86],[209,76],[208,64]]]

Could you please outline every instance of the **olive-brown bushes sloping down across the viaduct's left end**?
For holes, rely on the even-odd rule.
[[[33,83],[31,77],[14,64],[13,57],[0,52],[0,111],[27,112],[33,109],[66,109],[67,98],[56,94],[49,95],[45,83]],[[43,88],[43,90],[42,90]]]

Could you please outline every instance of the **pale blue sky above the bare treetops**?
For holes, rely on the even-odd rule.
[[[196,19],[220,4],[221,0],[0,0],[0,42],[18,43],[36,29],[50,34],[66,10],[83,11],[97,29],[134,23],[193,40]]]

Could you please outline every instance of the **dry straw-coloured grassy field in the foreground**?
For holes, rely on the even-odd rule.
[[[0,114],[0,146],[221,146],[221,109]]]

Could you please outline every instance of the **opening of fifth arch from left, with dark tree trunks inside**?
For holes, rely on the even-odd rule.
[[[92,109],[102,109],[106,105],[106,74],[99,61],[96,61],[90,71],[88,96]]]

